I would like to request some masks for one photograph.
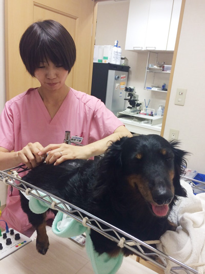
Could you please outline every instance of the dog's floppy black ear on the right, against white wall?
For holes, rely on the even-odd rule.
[[[180,175],[185,173],[185,168],[187,167],[186,156],[189,155],[187,151],[178,149],[179,141],[173,140],[170,142],[172,150],[174,152],[174,179],[173,184],[175,188],[175,195],[187,197],[186,190],[180,184]]]

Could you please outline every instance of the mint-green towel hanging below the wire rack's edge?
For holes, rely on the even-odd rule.
[[[40,193],[40,195],[44,196],[44,193]],[[58,200],[56,199],[55,202],[58,202]],[[49,205],[32,196],[30,196],[29,199],[29,207],[31,211],[37,214],[44,213],[49,209]],[[94,250],[93,243],[90,238],[90,229],[69,217],[67,214],[58,211],[53,221],[52,230],[57,236],[62,238],[71,238],[73,236],[81,235],[84,232],[86,233],[86,251],[92,263],[95,274],[114,274],[120,268],[123,260],[122,252],[114,258],[110,257],[110,255],[106,252],[99,255]]]

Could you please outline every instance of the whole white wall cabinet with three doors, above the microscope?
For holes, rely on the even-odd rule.
[[[130,0],[125,49],[174,50],[182,0]]]

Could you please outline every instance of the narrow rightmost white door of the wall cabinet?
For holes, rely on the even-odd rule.
[[[174,0],[167,50],[174,50],[182,0]]]

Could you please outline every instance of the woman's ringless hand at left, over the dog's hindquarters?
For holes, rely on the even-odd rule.
[[[38,153],[43,149],[43,145],[39,142],[28,143],[26,147],[18,151],[19,162],[25,163],[29,169],[37,167],[40,163],[44,161],[46,155],[38,155]]]

